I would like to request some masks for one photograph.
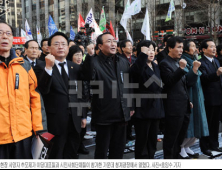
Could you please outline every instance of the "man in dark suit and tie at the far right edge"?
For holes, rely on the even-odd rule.
[[[211,156],[211,151],[222,152],[218,148],[219,118],[222,108],[222,68],[215,58],[216,45],[213,40],[204,40],[201,49],[203,51],[200,60],[201,82],[210,136],[200,139],[200,147],[205,155]]]

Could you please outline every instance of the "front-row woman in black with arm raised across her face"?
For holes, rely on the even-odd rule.
[[[159,120],[165,116],[162,99],[154,97],[162,92],[160,70],[153,62],[155,46],[152,41],[141,41],[137,46],[138,58],[130,69],[133,82],[139,84],[135,94],[141,96],[141,105],[136,107],[133,117],[136,131],[136,159],[154,159]],[[147,86],[147,82],[153,83]]]

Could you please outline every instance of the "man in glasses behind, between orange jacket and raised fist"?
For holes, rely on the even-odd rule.
[[[44,62],[38,60],[39,44],[35,40],[27,41],[24,45],[26,56],[24,59],[30,62],[37,79],[39,80],[42,70],[45,68]]]

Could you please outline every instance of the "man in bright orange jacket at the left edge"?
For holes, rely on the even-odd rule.
[[[32,131],[47,130],[46,115],[35,73],[12,43],[12,27],[0,22],[0,159],[32,159]]]

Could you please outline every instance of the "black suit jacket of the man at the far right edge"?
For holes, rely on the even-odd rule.
[[[220,67],[219,61],[214,58],[217,67]],[[222,104],[222,78],[218,77],[214,65],[203,56],[200,59],[201,83],[203,87],[205,104],[210,106],[219,106]]]

